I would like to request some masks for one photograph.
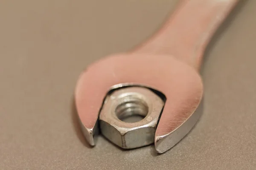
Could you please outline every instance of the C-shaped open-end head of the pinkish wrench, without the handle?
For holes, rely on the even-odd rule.
[[[80,75],[76,86],[76,108],[81,127],[92,146],[105,95],[114,85],[124,83],[145,85],[166,96],[155,134],[158,153],[169,150],[195,125],[198,116],[192,115],[201,101],[203,85],[194,68],[168,55],[113,55],[91,64]]]

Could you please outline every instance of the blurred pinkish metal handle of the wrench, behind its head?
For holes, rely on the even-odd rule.
[[[160,31],[135,53],[167,54],[199,70],[208,42],[239,0],[180,0]]]

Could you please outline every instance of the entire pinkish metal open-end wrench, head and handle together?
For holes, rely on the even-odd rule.
[[[87,141],[94,145],[93,128],[108,88],[137,83],[161,91],[167,99],[155,133],[157,152],[177,144],[199,118],[194,112],[203,94],[198,70],[204,49],[237,2],[181,0],[166,25],[139,48],[91,64],[79,77],[75,92]]]

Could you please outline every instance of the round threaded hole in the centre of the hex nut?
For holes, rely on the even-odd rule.
[[[134,96],[125,96],[116,107],[118,119],[127,123],[139,122],[148,114],[148,105],[142,99]]]

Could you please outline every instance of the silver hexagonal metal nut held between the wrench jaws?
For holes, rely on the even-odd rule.
[[[154,143],[154,135],[163,100],[145,87],[126,87],[109,94],[99,115],[102,134],[114,144],[125,149]],[[140,115],[138,122],[123,122],[126,116]]]

